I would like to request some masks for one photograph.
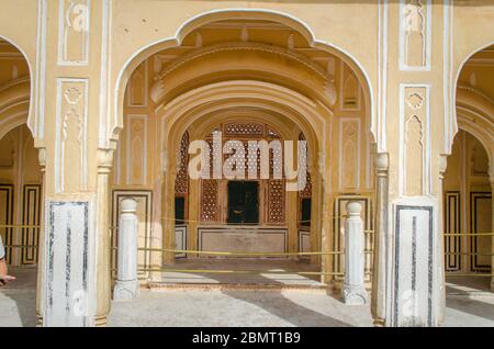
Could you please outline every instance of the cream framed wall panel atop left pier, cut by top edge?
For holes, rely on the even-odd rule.
[[[89,64],[91,0],[59,0],[58,65]]]

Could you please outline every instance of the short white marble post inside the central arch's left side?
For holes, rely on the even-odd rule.
[[[122,213],[119,217],[119,252],[114,300],[133,300],[137,296],[137,202],[125,198],[121,202]]]

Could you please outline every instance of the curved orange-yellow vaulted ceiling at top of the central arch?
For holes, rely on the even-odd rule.
[[[337,57],[311,47],[293,29],[270,21],[210,23],[188,34],[179,47],[155,54],[150,61],[151,99],[157,104],[229,79],[284,86],[328,108],[337,101],[338,78],[360,89],[353,71]],[[359,93],[350,93],[348,101]]]

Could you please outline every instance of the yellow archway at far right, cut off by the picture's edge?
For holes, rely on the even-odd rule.
[[[454,94],[458,133],[444,181],[447,280],[471,284],[472,278],[469,277],[481,273],[485,278],[475,279],[487,281],[483,285],[486,289],[494,284],[491,278],[494,227],[493,53],[494,46],[490,43],[467,57],[458,71]]]

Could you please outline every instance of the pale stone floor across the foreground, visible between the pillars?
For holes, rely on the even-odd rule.
[[[36,270],[13,269],[11,273],[18,280],[0,289],[0,327],[34,326]],[[494,327],[494,294],[485,279],[448,278],[447,291],[444,326]],[[134,302],[113,302],[109,326],[338,327],[371,326],[371,318],[368,306],[345,306],[319,288],[262,291],[170,288],[143,289]]]

